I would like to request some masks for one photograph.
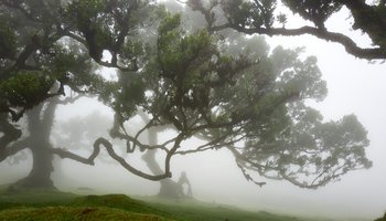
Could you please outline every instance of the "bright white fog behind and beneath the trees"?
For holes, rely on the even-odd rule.
[[[341,13],[340,17],[345,18],[346,14]],[[330,23],[330,25],[343,24]],[[364,45],[368,42],[361,33],[357,34],[357,39]],[[245,179],[227,149],[218,149],[173,157],[172,179],[178,180],[180,173],[185,171],[195,199],[251,211],[264,210],[336,220],[374,220],[380,217],[386,211],[386,64],[355,59],[349,55],[343,46],[313,36],[275,36],[266,40],[271,49],[280,44],[292,49],[305,46],[304,56],[318,57],[329,94],[323,102],[311,105],[322,113],[325,122],[355,114],[368,131],[371,145],[366,149],[366,155],[373,161],[373,167],[368,170],[351,171],[325,187],[312,190],[301,189],[286,181],[256,177],[258,181],[267,182],[266,186],[258,187]],[[103,72],[106,75],[114,73],[107,69]],[[114,113],[96,98],[81,98],[74,104],[60,106],[56,109],[53,130],[58,131],[61,124],[68,119],[76,117],[84,119],[90,114],[94,114],[95,118],[89,118],[86,125],[97,127],[93,126],[93,122],[103,118],[107,125],[100,133],[107,136],[111,128]],[[135,119],[130,127],[139,128],[141,125],[143,126],[143,122]],[[168,133],[170,131],[161,133],[159,139],[167,139]],[[55,143],[55,138],[52,140]],[[183,145],[189,147],[197,143],[201,140],[192,138]],[[92,145],[92,141],[85,140],[82,147],[74,148],[72,151],[88,156]],[[117,143],[117,146],[125,146],[125,144]],[[29,151],[24,151],[28,155]],[[95,166],[55,158],[55,169],[52,175],[55,187],[73,192],[82,192],[78,190],[82,187],[90,188],[84,193],[114,192],[129,196],[158,193],[160,187],[158,181],[146,180],[128,172],[114,164],[106,150],[101,151],[101,157],[97,158]],[[126,155],[124,150],[121,154]],[[17,156],[23,157],[23,154]],[[126,159],[140,170],[149,172],[141,159],[141,154],[127,155]],[[161,156],[158,156],[158,159],[163,164]],[[17,165],[9,165],[10,160],[0,162],[0,185],[12,183],[25,177],[31,170],[30,156]]]

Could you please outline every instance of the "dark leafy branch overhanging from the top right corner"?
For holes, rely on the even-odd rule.
[[[211,1],[211,10],[202,0],[189,0],[189,6],[212,17],[214,30],[230,28],[247,34],[267,34],[296,36],[311,34],[319,39],[343,45],[347,53],[366,60],[386,59],[386,2],[383,0],[222,0]],[[215,7],[219,6],[222,13],[216,13]],[[326,20],[346,8],[354,20],[353,30],[361,30],[367,34],[373,46],[361,48],[350,36],[340,32],[333,32],[325,27]],[[289,9],[293,14],[299,14],[312,25],[287,28]],[[216,19],[218,14],[225,14],[226,20]]]

